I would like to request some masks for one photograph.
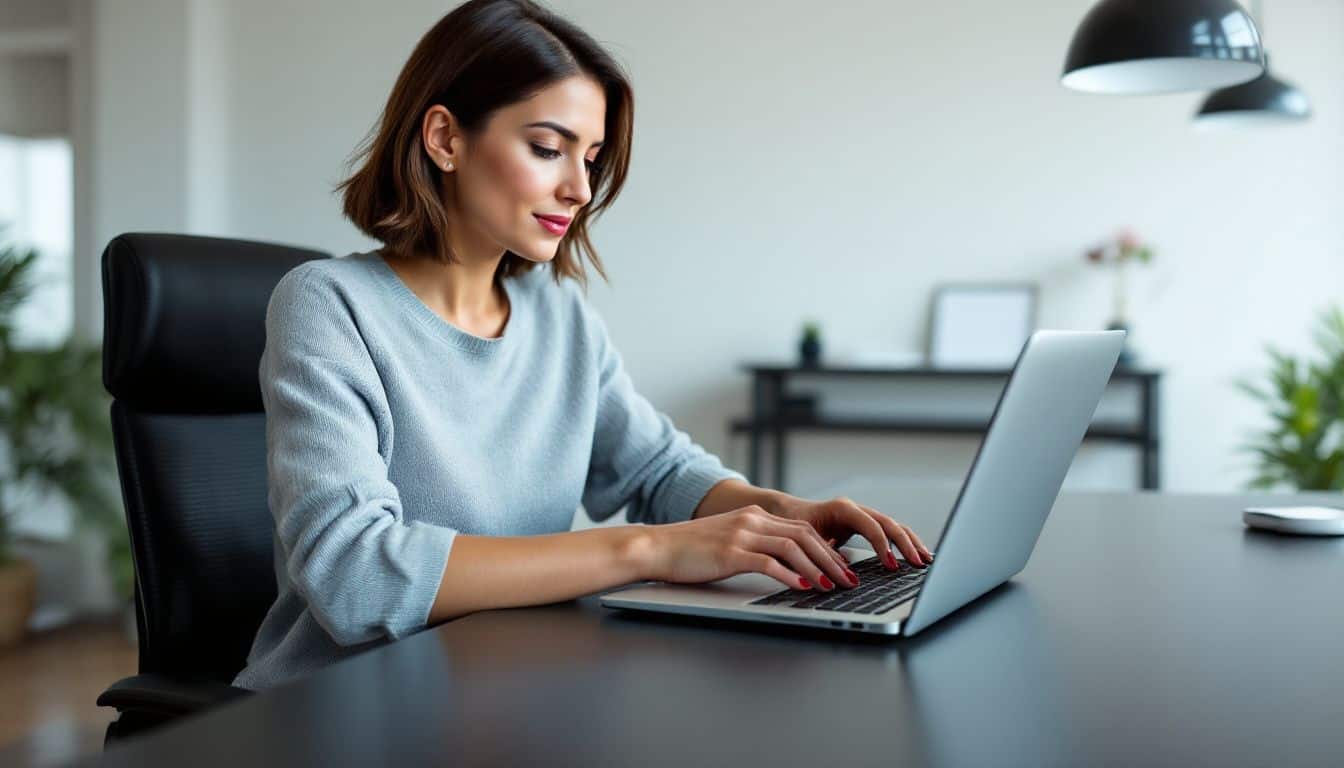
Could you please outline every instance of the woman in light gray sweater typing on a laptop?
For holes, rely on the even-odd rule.
[[[237,685],[641,580],[853,586],[852,534],[929,562],[875,510],[750,486],[634,391],[581,288],[633,124],[620,66],[527,0],[472,0],[415,47],[339,187],[383,247],[294,269],[267,308],[280,594]],[[659,525],[570,533],[581,502]]]

